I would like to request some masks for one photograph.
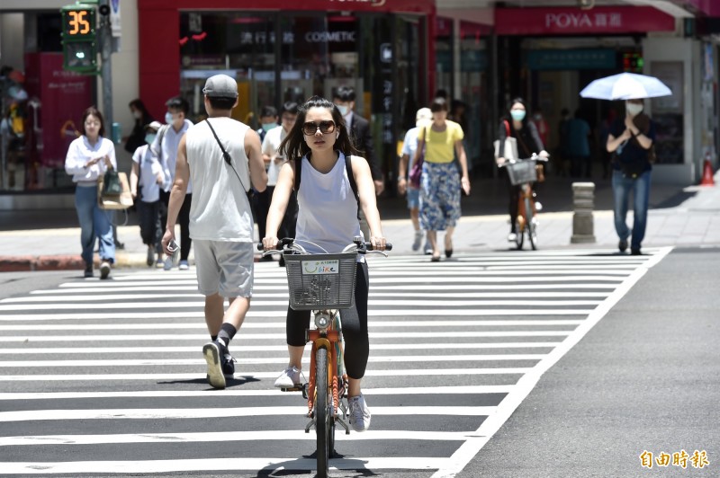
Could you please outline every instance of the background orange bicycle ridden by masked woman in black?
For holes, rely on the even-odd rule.
[[[533,190],[533,182],[537,181],[536,164],[538,161],[547,161],[547,158],[538,156],[533,153],[527,159],[509,159],[498,167],[508,168],[510,183],[513,186],[520,186],[520,195],[518,197],[518,218],[515,222],[515,243],[518,251],[523,248],[525,235],[530,243],[533,251],[537,249],[537,211],[536,193]]]

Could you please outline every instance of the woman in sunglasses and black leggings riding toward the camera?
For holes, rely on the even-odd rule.
[[[298,201],[298,220],[295,240],[307,252],[342,252],[355,236],[360,236],[357,208],[362,207],[370,226],[370,242],[380,251],[385,238],[380,213],[375,202],[375,187],[370,166],[357,156],[348,136],[345,120],[332,102],[313,96],[298,109],[293,128],[280,145],[284,156],[291,158],[283,164],[275,185],[275,192],[267,215],[266,250],[276,249],[277,230],[297,181],[296,164],[301,163],[300,187],[295,191]],[[352,174],[357,187],[356,198],[347,176],[346,155],[350,155]],[[359,201],[359,205],[358,205]],[[317,244],[317,245],[316,245]],[[370,411],[360,390],[369,355],[367,333],[367,292],[369,287],[367,264],[358,255],[355,305],[342,311],[345,337],[345,367],[348,376],[350,425],[356,431],[370,426]],[[288,306],[286,334],[290,363],[275,381],[276,387],[289,388],[300,384],[305,330],[310,326],[310,311],[296,311]]]

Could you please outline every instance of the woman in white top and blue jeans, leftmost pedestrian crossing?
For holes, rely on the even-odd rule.
[[[115,261],[115,242],[110,217],[98,203],[97,182],[108,171],[117,169],[115,146],[110,139],[103,137],[103,115],[94,106],[83,113],[80,132],[82,136],[67,148],[65,171],[73,176],[76,183],[75,208],[80,222],[85,277],[93,277],[93,247],[97,238],[100,243],[100,279],[107,279]]]

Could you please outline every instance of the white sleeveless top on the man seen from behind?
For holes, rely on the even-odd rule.
[[[222,146],[232,158],[225,163],[222,150],[205,121],[186,133],[187,162],[193,180],[190,207],[190,237],[211,241],[253,242],[253,217],[246,188],[250,176],[245,154],[245,135],[249,127],[231,118],[211,118]]]

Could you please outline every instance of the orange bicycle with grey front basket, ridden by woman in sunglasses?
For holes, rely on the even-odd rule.
[[[314,329],[305,332],[305,341],[312,342],[310,378],[307,383],[283,388],[284,392],[302,392],[308,401],[307,416],[311,419],[305,433],[315,427],[317,434],[318,478],[327,478],[329,458],[335,454],[335,427],[339,424],[350,434],[347,425],[347,375],[344,371],[342,322],[339,309],[353,306],[357,254],[374,252],[371,243],[355,237],[343,252],[311,254],[292,238],[284,238],[280,249],[263,255],[281,252],[285,260],[290,307],[310,310]],[[263,250],[263,245],[257,245]],[[385,245],[386,250],[392,244]]]

